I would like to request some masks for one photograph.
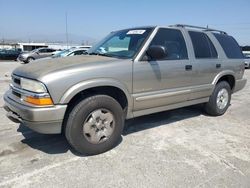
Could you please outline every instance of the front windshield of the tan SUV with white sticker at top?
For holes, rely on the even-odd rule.
[[[126,29],[110,33],[88,53],[117,58],[132,58],[141,48],[153,28]]]

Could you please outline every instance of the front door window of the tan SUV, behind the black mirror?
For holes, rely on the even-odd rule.
[[[167,50],[165,59],[187,59],[187,47],[182,33],[176,29],[161,28],[158,30],[151,45],[161,45]]]

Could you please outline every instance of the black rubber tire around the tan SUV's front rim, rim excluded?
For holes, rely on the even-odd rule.
[[[110,137],[102,143],[93,144],[88,141],[84,133],[84,123],[89,115],[99,109],[107,109],[114,118],[114,128]],[[70,145],[79,153],[96,155],[115,147],[121,138],[124,126],[124,115],[120,104],[110,96],[95,95],[83,99],[69,112],[65,136]]]

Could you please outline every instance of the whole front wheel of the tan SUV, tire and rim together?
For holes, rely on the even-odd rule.
[[[65,135],[76,151],[95,155],[118,143],[123,125],[120,104],[112,97],[95,95],[80,101],[69,112]]]

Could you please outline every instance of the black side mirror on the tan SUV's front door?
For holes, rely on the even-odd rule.
[[[167,57],[167,50],[161,45],[152,45],[148,48],[146,54],[151,60],[160,60]]]

